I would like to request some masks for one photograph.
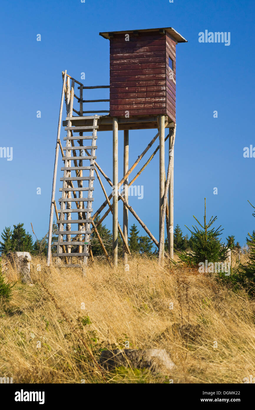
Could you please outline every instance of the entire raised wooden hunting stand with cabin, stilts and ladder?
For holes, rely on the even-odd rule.
[[[118,232],[123,242],[123,258],[127,263],[131,255],[128,245],[128,212],[135,217],[149,238],[158,247],[160,263],[164,257],[173,258],[174,233],[174,141],[176,131],[176,44],[187,42],[172,27],[148,30],[127,30],[99,33],[110,40],[110,85],[85,86],[65,72],[59,124],[56,141],[52,200],[50,207],[50,224],[48,237],[47,264],[55,256],[57,263],[61,257],[65,266],[83,267],[88,257],[93,261],[90,235],[95,233],[109,264],[112,264],[97,226],[111,212],[113,216],[113,266],[118,260]],[[71,82],[71,84],[70,84]],[[109,99],[84,100],[83,92],[87,89],[110,89]],[[65,148],[61,145],[60,130],[65,100],[67,116],[63,126],[67,131]],[[77,101],[76,101],[77,100]],[[77,102],[78,105],[74,103]],[[109,110],[89,110],[88,103],[108,102]],[[84,105],[86,109],[84,110]],[[104,113],[104,114],[102,114]],[[77,114],[77,115],[75,115]],[[85,114],[85,115],[84,115]],[[129,167],[129,130],[156,128],[155,137],[149,142],[143,152],[138,155],[135,163]],[[165,137],[165,129],[169,134]],[[113,178],[111,179],[96,162],[96,149],[100,143],[97,131],[113,131]],[[118,178],[118,131],[124,130],[123,177]],[[89,135],[88,135],[89,133]],[[86,135],[85,135],[86,134]],[[140,171],[129,182],[129,175],[147,153],[152,144],[159,138],[159,145],[142,166]],[[165,141],[169,140],[169,162],[167,174],[165,171]],[[88,142],[91,140],[91,142]],[[56,173],[59,148],[64,166],[61,198],[57,209],[55,201]],[[65,153],[64,153],[65,151]],[[138,214],[129,205],[129,187],[135,182],[144,168],[159,151],[159,240],[157,240]],[[101,185],[106,200],[93,212],[94,171]],[[107,196],[99,172],[111,186]],[[77,185],[76,187],[74,185]],[[87,186],[86,186],[87,185]],[[123,189],[124,187],[124,189]],[[120,189],[123,191],[120,192]],[[111,199],[113,202],[111,203]],[[118,201],[123,202],[123,228],[118,222]],[[149,206],[152,206],[149,204]],[[108,210],[102,216],[102,210]],[[51,255],[53,214],[56,213],[56,223],[59,230],[58,241],[54,243],[56,253]],[[77,216],[74,216],[77,214]],[[100,214],[97,224],[94,220]],[[166,221],[169,253],[164,251]],[[74,224],[77,225],[75,230]],[[92,226],[90,226],[92,225]],[[75,235],[75,236],[74,236]],[[66,237],[66,240],[64,240]]]

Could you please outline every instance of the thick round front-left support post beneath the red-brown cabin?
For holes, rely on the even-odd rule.
[[[118,265],[118,119],[113,118],[113,265]]]

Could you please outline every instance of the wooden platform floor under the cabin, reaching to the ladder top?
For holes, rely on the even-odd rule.
[[[172,120],[168,118],[169,124],[167,125],[166,128],[174,128],[174,123]],[[93,119],[92,118],[87,118],[86,117],[79,117],[79,116],[73,116],[69,118],[70,121],[72,121],[72,132],[79,132],[81,129],[75,130],[75,127],[82,127],[82,126],[88,126],[88,125],[93,125]],[[67,121],[62,121],[62,124],[64,127],[67,126]],[[97,120],[97,125],[98,125],[98,131],[112,131],[113,130],[113,117],[110,115],[100,115],[99,120]],[[121,130],[143,130],[143,129],[149,129],[149,128],[158,128],[158,117],[157,116],[134,116],[130,118],[123,118],[123,117],[118,117],[118,129]],[[84,132],[86,132],[86,129],[84,129]],[[79,139],[79,137],[74,137],[75,139]],[[85,137],[83,136],[83,139]]]

